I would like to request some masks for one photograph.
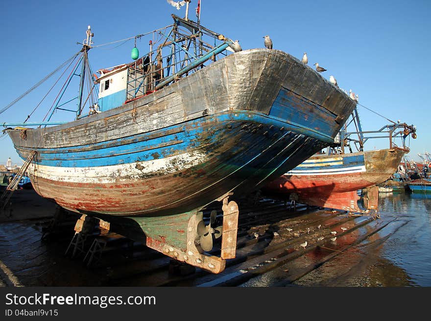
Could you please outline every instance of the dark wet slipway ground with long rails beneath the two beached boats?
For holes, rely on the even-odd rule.
[[[378,286],[384,281],[370,275],[384,268],[379,247],[407,224],[305,205],[293,211],[266,198],[240,202],[239,209],[237,256],[214,275],[97,231],[82,251],[65,255],[79,215],[49,229],[55,205],[33,190],[19,190],[11,216],[0,216],[0,286]],[[90,260],[95,240],[105,247]],[[213,253],[218,251],[216,244]]]

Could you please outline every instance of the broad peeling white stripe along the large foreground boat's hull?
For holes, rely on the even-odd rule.
[[[192,151],[150,161],[100,167],[53,167],[30,164],[28,171],[30,175],[53,181],[113,184],[118,183],[119,180],[137,181],[142,174],[156,172],[158,174],[169,174],[183,171],[205,162],[206,159],[207,156],[205,153]],[[37,168],[36,171],[35,168]]]

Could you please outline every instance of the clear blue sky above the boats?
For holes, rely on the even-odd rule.
[[[194,18],[197,0],[192,0]],[[154,1],[30,1],[0,3],[1,86],[0,109],[36,84],[79,50],[87,25],[95,45],[135,36],[181,17],[166,0]],[[225,36],[238,39],[243,49],[263,47],[270,35],[275,49],[309,64],[318,62],[334,75],[338,85],[359,95],[359,102],[392,120],[417,126],[409,156],[431,152],[431,1],[224,1],[202,0],[201,22]],[[149,38],[138,41],[141,55]],[[118,47],[90,50],[94,70],[128,63],[133,41]],[[22,122],[48,90],[41,87],[0,115],[0,122]],[[77,89],[76,89],[77,90]],[[51,101],[41,105],[30,121],[41,121]],[[39,110],[38,109],[38,110]],[[364,130],[378,129],[387,121],[359,107]],[[58,113],[67,120],[72,113]],[[366,149],[388,148],[386,139],[369,141]],[[8,157],[22,163],[9,137],[0,140],[0,163]]]

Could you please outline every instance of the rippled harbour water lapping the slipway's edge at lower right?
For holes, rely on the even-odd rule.
[[[381,219],[328,242],[339,250],[394,220],[294,282],[296,286],[431,286],[431,195],[392,193],[379,198]],[[406,224],[407,223],[407,224]],[[317,248],[244,286],[271,286],[333,253]]]

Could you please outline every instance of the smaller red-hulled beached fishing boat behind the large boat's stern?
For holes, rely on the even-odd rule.
[[[360,149],[368,138],[364,138],[360,128],[358,111],[355,108],[352,118],[357,125],[359,140],[350,138],[351,133],[346,128],[340,132],[340,137],[326,154],[311,156],[291,171],[268,183],[262,191],[268,196],[294,199],[309,205],[327,207],[350,212],[364,212],[358,206],[358,190],[380,184],[390,178],[397,170],[405,153],[409,150],[404,145],[408,134],[416,137],[413,125],[393,124],[387,125],[376,132],[388,129],[390,149],[368,150],[345,153],[350,143],[359,143]],[[403,146],[398,148],[392,139],[399,136],[395,133],[397,128],[403,128]],[[386,131],[384,131],[386,132]],[[370,133],[368,131],[367,133]],[[381,136],[385,138],[386,136]],[[376,137],[373,137],[376,138]],[[377,191],[376,191],[377,192]],[[369,193],[377,195],[377,193]],[[292,196],[293,195],[293,196]],[[377,210],[376,197],[374,201],[367,202],[367,210]]]

